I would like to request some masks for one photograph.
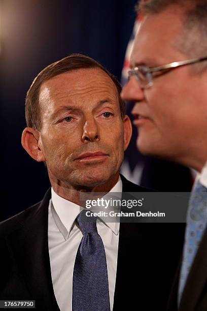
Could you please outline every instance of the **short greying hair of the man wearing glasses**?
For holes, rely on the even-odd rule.
[[[137,12],[158,14],[170,6],[183,10],[183,33],[175,42],[175,48],[189,58],[207,56],[207,0],[147,0],[140,1]],[[198,70],[207,68],[207,61],[194,65]]]

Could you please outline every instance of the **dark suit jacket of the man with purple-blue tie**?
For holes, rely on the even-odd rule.
[[[122,182],[123,192],[149,191],[123,176]],[[37,310],[56,311],[48,251],[50,198],[48,190],[40,203],[0,224],[0,299],[36,300]],[[114,311],[166,309],[184,231],[183,224],[120,223]]]

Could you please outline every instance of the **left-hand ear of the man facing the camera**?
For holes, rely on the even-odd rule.
[[[25,128],[22,132],[21,144],[30,157],[38,162],[46,161],[39,144],[40,134],[32,128]]]

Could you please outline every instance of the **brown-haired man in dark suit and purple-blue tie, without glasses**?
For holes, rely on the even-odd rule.
[[[119,175],[131,137],[120,92],[116,78],[84,55],[57,61],[34,79],[22,145],[45,163],[52,187],[40,203],[0,224],[0,299],[36,300],[38,310],[165,309],[182,249],[184,230],[178,224],[99,222],[107,280],[91,257],[91,266],[83,260],[80,273],[74,270],[85,235],[78,221],[80,194],[147,191]],[[100,269],[107,288],[97,292],[98,279],[80,278],[91,267]],[[87,291],[87,299],[92,297],[87,307],[85,301],[77,305],[80,279],[87,287],[79,296]],[[110,307],[96,308],[103,290]]]

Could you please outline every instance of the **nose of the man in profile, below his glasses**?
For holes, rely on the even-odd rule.
[[[144,99],[144,91],[134,77],[130,77],[121,91],[124,101],[141,102]]]

